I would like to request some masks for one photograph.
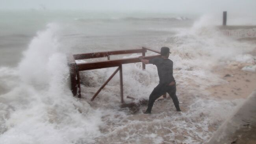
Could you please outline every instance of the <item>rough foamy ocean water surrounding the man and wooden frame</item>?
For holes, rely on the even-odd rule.
[[[253,60],[254,44],[225,36],[215,27],[221,18],[81,11],[1,11],[0,18],[0,143],[201,144],[244,101],[219,101],[206,91],[227,83],[213,67]],[[145,106],[135,114],[121,109],[119,76],[91,102],[115,68],[80,72],[83,98],[72,96],[67,53],[142,46],[170,47],[183,112],[169,99],[156,102],[151,115],[143,114]],[[126,103],[128,95],[148,99],[158,84],[156,67],[123,65],[123,80]]]

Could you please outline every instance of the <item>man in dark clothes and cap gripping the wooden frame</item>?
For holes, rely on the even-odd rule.
[[[178,97],[176,96],[176,82],[173,77],[173,61],[169,59],[170,49],[168,47],[161,48],[161,58],[153,58],[150,60],[144,59],[140,56],[139,59],[144,64],[156,65],[159,76],[159,84],[154,88],[149,96],[148,108],[145,113],[151,113],[152,106],[156,99],[166,92],[173,99],[174,106],[177,111],[180,110]]]

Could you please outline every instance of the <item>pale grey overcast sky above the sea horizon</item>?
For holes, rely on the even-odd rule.
[[[256,13],[256,0],[0,0],[0,9]]]

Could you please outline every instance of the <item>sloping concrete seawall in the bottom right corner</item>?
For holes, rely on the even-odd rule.
[[[220,126],[208,144],[256,144],[256,90]]]

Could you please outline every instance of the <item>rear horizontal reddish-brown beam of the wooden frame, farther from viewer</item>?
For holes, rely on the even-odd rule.
[[[117,51],[110,51],[110,52],[93,52],[88,54],[74,54],[74,59],[90,59],[90,58],[103,58],[108,57],[110,55],[117,55],[117,54],[135,54],[135,53],[142,53],[142,49],[133,49],[133,50],[117,50]]]

